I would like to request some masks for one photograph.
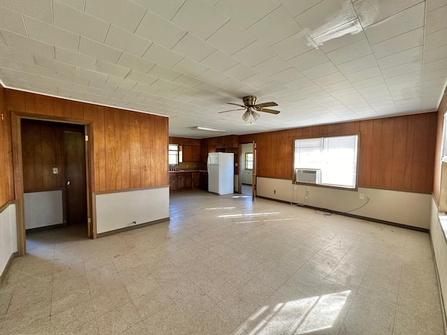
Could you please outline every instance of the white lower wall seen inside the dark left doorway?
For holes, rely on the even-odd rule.
[[[62,191],[42,191],[23,194],[27,229],[64,223]]]

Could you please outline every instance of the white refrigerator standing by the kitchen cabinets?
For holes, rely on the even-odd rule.
[[[207,160],[208,192],[233,194],[235,156],[226,152],[210,152]]]

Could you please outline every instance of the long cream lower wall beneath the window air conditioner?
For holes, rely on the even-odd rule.
[[[265,198],[287,202],[305,203],[307,205],[330,209],[333,211],[350,211],[349,214],[375,218],[377,220],[411,225],[418,228],[430,228],[430,210],[432,195],[423,193],[398,192],[376,188],[358,188],[358,191],[345,191],[335,188],[296,185],[290,179],[273,179],[258,177],[256,179],[257,195]],[[276,193],[275,193],[276,191]],[[365,200],[360,200],[360,193]],[[367,201],[368,204],[356,209]]]

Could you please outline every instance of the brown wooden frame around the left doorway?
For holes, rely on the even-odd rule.
[[[88,237],[96,238],[96,222],[91,220],[91,161],[93,151],[91,150],[91,121],[71,119],[67,117],[54,117],[52,115],[29,114],[24,112],[10,111],[11,115],[11,142],[13,149],[13,180],[14,198],[17,203],[17,255],[24,256],[27,253],[26,224],[24,217],[23,201],[23,163],[22,163],[22,119],[38,121],[58,122],[61,124],[78,124],[84,126],[84,133],[88,136],[85,141],[85,172],[87,181],[87,225]]]

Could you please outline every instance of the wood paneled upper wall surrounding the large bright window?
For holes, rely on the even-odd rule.
[[[358,186],[431,193],[437,112],[241,135],[258,142],[258,176],[292,179],[293,139],[360,133]]]

